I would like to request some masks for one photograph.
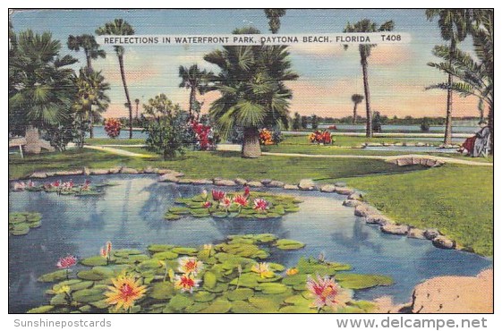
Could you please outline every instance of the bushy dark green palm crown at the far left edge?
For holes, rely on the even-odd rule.
[[[61,43],[49,32],[26,30],[15,38],[9,58],[9,79],[13,80],[9,115],[19,124],[18,131],[58,125],[68,117],[74,85],[73,70],[66,66],[77,60],[71,55],[59,57],[60,49]]]

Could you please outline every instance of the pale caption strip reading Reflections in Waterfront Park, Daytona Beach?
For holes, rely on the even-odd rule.
[[[291,44],[396,44],[407,43],[406,33],[337,33],[316,35],[148,35],[148,36],[98,36],[101,45],[291,45]]]

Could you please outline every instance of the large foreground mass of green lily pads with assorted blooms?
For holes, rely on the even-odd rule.
[[[200,247],[152,244],[146,253],[109,246],[110,259],[82,259],[85,267],[76,273],[74,257],[65,257],[60,270],[38,278],[54,283],[46,291],[49,303],[29,312],[362,313],[374,305],[354,300],[353,291],[392,284],[387,276],[347,273],[351,266],[320,258],[289,268],[265,260],[281,241],[294,242],[262,233]]]

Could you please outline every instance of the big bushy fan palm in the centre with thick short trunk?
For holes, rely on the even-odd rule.
[[[235,34],[260,33],[253,28]],[[259,128],[288,122],[292,92],[285,81],[296,80],[287,47],[225,46],[204,56],[221,70],[211,78],[221,97],[209,108],[224,138],[235,126],[243,128],[242,157],[260,157]]]

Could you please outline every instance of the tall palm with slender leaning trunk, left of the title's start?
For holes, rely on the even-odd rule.
[[[98,36],[101,35],[117,35],[117,36],[129,36],[134,34],[134,29],[123,19],[115,19],[115,21],[107,22],[104,26],[96,30]],[[125,81],[125,72],[123,70],[123,54],[125,49],[122,46],[114,46],[115,54],[118,57],[118,64],[120,67],[120,75],[122,77],[123,91],[125,92],[125,98],[127,100],[127,106],[129,108],[129,139],[132,139],[132,103],[131,98],[129,98],[129,89],[127,89],[127,83]]]

